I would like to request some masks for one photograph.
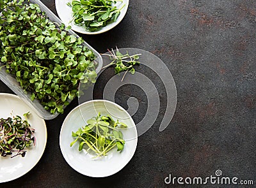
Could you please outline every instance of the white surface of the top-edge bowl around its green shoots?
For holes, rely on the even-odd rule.
[[[116,22],[108,24],[105,27],[102,27],[101,29],[99,29],[97,31],[87,31],[84,27],[77,26],[74,24],[74,22],[70,22],[73,19],[72,8],[70,6],[68,6],[67,3],[71,3],[71,2],[72,2],[72,0],[55,0],[56,11],[57,11],[61,21],[65,25],[67,25],[67,26],[70,25],[71,29],[73,31],[76,31],[78,33],[83,33],[83,34],[100,34],[100,33],[109,31],[110,29],[113,29],[113,27],[115,27],[122,21],[122,19],[125,16],[125,13],[127,12],[128,5],[129,5],[129,0],[124,0],[123,3],[120,3],[118,1],[116,3],[116,8],[121,8],[122,6],[124,6],[124,4],[125,4],[125,6],[120,11],[120,15],[118,16]]]

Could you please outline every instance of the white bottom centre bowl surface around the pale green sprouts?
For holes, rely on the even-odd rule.
[[[99,113],[101,117],[110,116],[113,121],[118,120],[127,125],[121,130],[122,139],[125,141],[121,152],[116,146],[106,155],[98,156],[92,149],[88,150],[87,145],[79,150],[79,141],[70,146],[70,143],[76,140],[74,133],[86,126],[92,117],[99,117]],[[63,157],[74,170],[88,177],[108,177],[122,170],[132,159],[137,142],[138,134],[131,115],[122,106],[103,99],[86,101],[74,108],[64,120],[60,132],[60,148]]]

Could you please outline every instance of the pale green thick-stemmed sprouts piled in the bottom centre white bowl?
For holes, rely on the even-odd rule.
[[[70,147],[79,141],[78,150],[81,151],[84,145],[87,151],[92,150],[96,157],[106,155],[111,149],[117,147],[117,151],[124,150],[125,141],[120,128],[127,128],[127,125],[113,120],[109,115],[93,117],[87,121],[87,125],[79,128],[72,136],[76,140],[70,143]]]

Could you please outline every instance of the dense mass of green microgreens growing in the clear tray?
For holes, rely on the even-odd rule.
[[[2,4],[4,3],[4,5]],[[45,110],[63,113],[79,96],[79,82],[95,82],[92,50],[83,39],[51,22],[37,4],[0,0],[0,58],[7,73],[15,75],[22,89],[38,99]]]

